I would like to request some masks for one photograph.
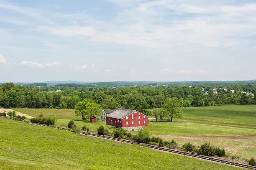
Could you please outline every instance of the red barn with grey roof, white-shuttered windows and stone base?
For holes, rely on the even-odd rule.
[[[139,130],[148,126],[148,117],[136,110],[119,108],[106,116],[106,125],[122,127],[126,130]]]

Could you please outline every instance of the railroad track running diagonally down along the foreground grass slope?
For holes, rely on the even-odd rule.
[[[29,123],[39,125],[39,126],[51,127],[51,128],[54,128],[54,129],[64,129],[64,130],[67,130],[67,131],[72,130],[72,129],[65,128],[65,127],[49,126],[49,125],[46,125],[46,124],[33,123],[33,122],[29,122]],[[231,162],[231,161],[228,161],[228,160],[221,160],[221,159],[218,159],[218,158],[215,158],[215,157],[196,155],[196,154],[182,152],[182,151],[173,150],[173,149],[169,149],[169,148],[159,147],[159,146],[155,146],[155,145],[141,144],[141,143],[134,142],[134,141],[131,141],[131,140],[118,139],[118,138],[114,138],[114,137],[110,137],[110,136],[105,136],[105,135],[100,135],[100,134],[95,134],[95,133],[89,133],[89,132],[84,132],[84,131],[79,131],[79,133],[80,134],[86,134],[86,135],[93,136],[93,137],[100,137],[100,138],[104,138],[104,139],[108,139],[108,140],[128,143],[128,144],[143,145],[143,146],[146,146],[146,147],[154,149],[154,150],[160,150],[160,151],[179,154],[179,155],[183,155],[183,156],[194,157],[194,158],[201,159],[201,160],[206,160],[206,161],[211,161],[211,162],[216,162],[216,163],[221,163],[221,164],[226,164],[226,165],[231,165],[231,166],[236,166],[236,167],[242,167],[242,168],[250,168],[251,170],[256,170],[256,166],[246,165],[246,164],[237,163],[237,162]]]

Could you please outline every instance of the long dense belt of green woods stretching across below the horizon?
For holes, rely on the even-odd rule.
[[[41,85],[41,84],[40,84]],[[208,95],[203,94],[209,91]],[[213,94],[212,89],[218,89]],[[51,91],[61,89],[61,92]],[[235,90],[231,93],[230,90]],[[148,108],[160,108],[169,98],[175,97],[179,107],[202,107],[223,104],[256,104],[254,95],[242,91],[256,93],[256,84],[244,83],[197,83],[180,84],[177,86],[44,86],[15,85],[5,83],[0,85],[0,107],[4,108],[63,108],[74,109],[83,99],[90,99],[99,104],[101,109],[116,109],[119,107],[135,109],[147,114]]]

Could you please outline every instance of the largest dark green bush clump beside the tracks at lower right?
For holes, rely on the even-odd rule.
[[[220,149],[219,147],[214,147],[210,145],[210,143],[202,144],[199,149],[197,150],[197,153],[199,155],[205,155],[205,156],[218,156],[223,157],[226,155],[224,149]]]

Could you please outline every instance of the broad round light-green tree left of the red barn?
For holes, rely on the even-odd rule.
[[[74,107],[74,110],[75,114],[77,116],[81,115],[83,120],[101,114],[100,104],[97,104],[90,99],[79,101]]]

